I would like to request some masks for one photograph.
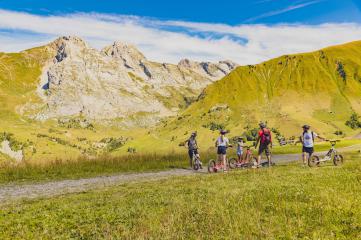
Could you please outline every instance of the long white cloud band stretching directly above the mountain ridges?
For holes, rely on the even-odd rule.
[[[39,16],[0,10],[0,51],[23,50],[62,35],[80,36],[96,48],[115,40],[125,41],[159,62],[191,58],[254,64],[283,54],[359,40],[361,25],[230,26],[98,13]]]

